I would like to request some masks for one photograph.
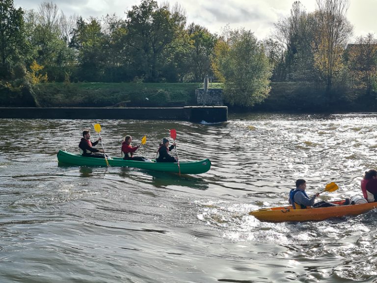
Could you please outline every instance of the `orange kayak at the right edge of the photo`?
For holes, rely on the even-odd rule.
[[[377,208],[377,202],[344,205],[345,200],[339,200],[332,203],[339,206],[306,209],[293,209],[292,206],[271,207],[251,211],[249,215],[264,222],[321,221],[332,217],[358,215]]]

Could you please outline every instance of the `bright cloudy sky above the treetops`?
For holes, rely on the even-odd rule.
[[[45,0],[48,1],[48,0]],[[50,0],[51,1],[51,0]],[[159,4],[178,3],[186,11],[187,22],[221,34],[222,28],[245,28],[254,32],[259,40],[271,34],[273,24],[289,16],[295,0],[157,0]],[[16,7],[38,10],[43,0],[14,0]],[[90,16],[100,19],[107,14],[126,18],[125,12],[139,5],[141,0],[52,0],[66,16]],[[316,0],[301,0],[307,12],[316,9]],[[348,20],[353,25],[352,40],[377,32],[377,0],[349,0]]]

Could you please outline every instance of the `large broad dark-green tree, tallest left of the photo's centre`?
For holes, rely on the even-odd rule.
[[[139,77],[156,82],[161,79],[166,49],[175,48],[177,37],[184,34],[186,16],[179,9],[169,11],[168,4],[143,0],[127,12],[128,41],[132,64]]]

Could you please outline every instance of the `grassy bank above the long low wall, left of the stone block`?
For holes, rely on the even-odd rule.
[[[47,83],[2,85],[1,107],[184,107],[202,84]]]

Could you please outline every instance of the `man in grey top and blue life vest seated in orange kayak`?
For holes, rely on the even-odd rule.
[[[296,189],[292,189],[289,193],[289,203],[292,204],[294,209],[307,208],[308,206],[312,207],[329,207],[336,206],[336,204],[321,200],[314,203],[316,198],[320,193],[316,193],[311,198],[306,195],[306,181],[304,179],[296,180]]]

